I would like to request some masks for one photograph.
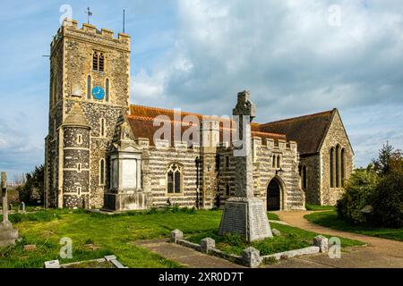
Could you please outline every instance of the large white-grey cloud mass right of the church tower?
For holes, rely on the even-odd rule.
[[[329,25],[331,4],[340,7],[337,27]],[[249,88],[259,122],[333,107],[342,114],[403,107],[399,1],[178,0],[177,9],[176,46],[150,73],[136,75],[137,103],[157,94],[153,105],[229,114],[236,92]],[[368,140],[359,130],[349,132],[364,162]],[[380,147],[392,133],[367,146]]]

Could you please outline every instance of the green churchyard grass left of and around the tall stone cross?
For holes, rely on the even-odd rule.
[[[222,211],[196,211],[166,208],[123,214],[96,214],[84,210],[42,210],[28,214],[11,214],[10,221],[20,232],[15,246],[0,249],[0,267],[43,267],[45,261],[59,259],[61,264],[115,255],[129,267],[181,267],[160,257],[136,241],[167,239],[172,230],[184,231],[184,237],[197,241],[205,237],[216,240],[217,247],[238,254],[249,246],[239,237],[218,236]],[[270,220],[278,220],[269,214]],[[263,254],[272,254],[311,245],[318,233],[280,223],[270,223],[282,235],[253,242]],[[328,236],[329,237],[329,236]],[[62,238],[73,241],[73,258],[60,258]],[[343,247],[363,245],[357,240],[342,239]],[[35,248],[24,246],[35,245]]]

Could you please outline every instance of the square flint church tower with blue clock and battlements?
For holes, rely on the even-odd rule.
[[[101,207],[107,149],[129,110],[130,37],[66,20],[50,45],[47,207]]]

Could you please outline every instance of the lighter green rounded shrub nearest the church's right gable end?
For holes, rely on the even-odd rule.
[[[352,223],[367,223],[368,214],[361,210],[372,204],[378,181],[378,175],[373,171],[356,170],[352,173],[347,181],[346,192],[337,204],[339,216]]]

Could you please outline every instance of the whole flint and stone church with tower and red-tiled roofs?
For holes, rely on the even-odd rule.
[[[69,20],[50,49],[47,207],[212,208],[234,195],[234,121],[131,105],[130,36]],[[251,127],[268,210],[335,204],[354,156],[337,109]]]

